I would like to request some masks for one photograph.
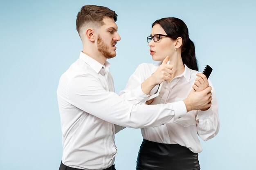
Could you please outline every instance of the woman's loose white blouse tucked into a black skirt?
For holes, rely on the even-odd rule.
[[[130,76],[125,90],[121,91],[119,95],[132,104],[145,104],[149,95],[145,95],[142,91],[139,93],[136,89],[141,88],[141,83],[150,77],[160,65],[161,62],[158,64],[140,64],[135,73]],[[197,78],[196,74],[199,72],[191,70],[186,65],[184,66],[185,70],[181,75],[173,78],[170,83],[168,81],[164,82],[159,96],[150,105],[186,99]],[[202,146],[198,135],[204,141],[207,141],[216,136],[220,128],[215,90],[210,81],[209,85],[212,87],[213,100],[208,110],[192,110],[180,119],[175,116],[168,124],[159,127],[141,128],[143,138],[163,144],[180,144],[194,153],[201,152]],[[150,95],[153,95],[156,91],[157,86],[152,89]]]

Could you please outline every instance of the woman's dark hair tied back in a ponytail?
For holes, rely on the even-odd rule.
[[[181,57],[183,64],[186,64],[192,70],[198,71],[198,64],[195,58],[195,45],[189,39],[189,30],[186,24],[179,18],[168,17],[156,20],[152,27],[155,24],[162,26],[164,31],[171,39],[176,40],[177,38],[182,38],[181,45]]]

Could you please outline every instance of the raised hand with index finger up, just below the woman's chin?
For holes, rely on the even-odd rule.
[[[173,65],[167,64],[168,61],[169,56],[167,55],[164,61],[162,62],[161,66],[159,66],[155,73],[151,75],[155,85],[161,84],[162,82],[167,81],[171,78],[171,75],[173,74]]]

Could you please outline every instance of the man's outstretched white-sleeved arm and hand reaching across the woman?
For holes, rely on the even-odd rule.
[[[78,75],[67,88],[69,102],[77,108],[100,119],[130,128],[160,126],[171,122],[174,115],[183,117],[187,108],[205,107],[207,89],[194,92],[186,105],[183,101],[171,104],[132,105],[114,92],[106,91],[92,75]],[[198,99],[196,99],[198,97]],[[186,108],[187,107],[187,108]]]

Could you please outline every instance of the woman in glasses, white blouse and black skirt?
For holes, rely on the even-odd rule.
[[[150,55],[159,64],[140,64],[120,96],[132,104],[160,104],[185,99],[191,90],[212,87],[209,108],[174,117],[171,124],[141,129],[143,141],[137,170],[199,170],[202,151],[198,135],[207,141],[219,131],[218,102],[209,80],[198,72],[195,46],[186,24],[178,18],[162,18],[152,24],[147,38]],[[166,57],[167,56],[167,57]],[[167,64],[168,60],[170,64]],[[158,97],[147,101],[162,83]]]

